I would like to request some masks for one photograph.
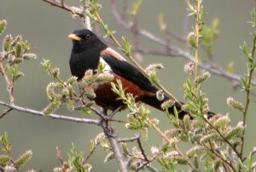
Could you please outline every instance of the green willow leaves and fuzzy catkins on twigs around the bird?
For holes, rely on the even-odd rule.
[[[71,8],[67,8],[67,4],[64,5],[63,1],[60,3],[57,1],[44,2],[55,4],[55,6],[61,9],[66,8],[66,10],[71,10]],[[248,115],[247,110],[250,105],[251,91],[254,89],[252,82],[256,68],[254,60],[256,49],[255,9],[250,12],[250,24],[253,27],[253,47],[249,49],[247,43],[241,45],[241,51],[247,60],[247,72],[240,79],[246,100],[244,103],[241,103],[231,96],[227,98],[228,106],[238,110],[242,114],[242,121],[232,125],[231,118],[228,114],[208,116],[212,112],[210,112],[209,100],[207,94],[203,91],[203,86],[204,83],[211,82],[211,74],[210,72],[199,71],[201,63],[199,50],[202,46],[207,51],[207,54],[210,57],[212,56],[212,45],[218,37],[218,19],[212,20],[212,26],[206,26],[204,23],[205,9],[202,1],[187,0],[186,2],[189,16],[193,16],[195,19],[195,26],[187,36],[187,42],[195,54],[195,60],[188,62],[184,66],[184,72],[188,74],[188,78],[183,83],[185,102],[180,106],[188,114],[183,119],[178,119],[178,112],[175,107],[178,103],[176,98],[166,91],[160,84],[160,79],[157,77],[157,72],[164,67],[163,65],[151,64],[146,69],[139,66],[131,55],[133,49],[131,49],[130,41],[128,38],[122,37],[121,44],[114,37],[114,32],[109,29],[109,26],[101,18],[100,10],[102,6],[96,0],[82,0],[81,4],[88,4],[88,8],[84,8],[84,6],[81,8],[82,13],[72,11],[73,14],[77,14],[77,17],[84,20],[85,14],[90,17],[90,20],[102,26],[102,30],[113,40],[113,43],[148,77],[154,86],[160,88],[160,91],[157,93],[159,100],[162,100],[164,94],[171,97],[170,100],[163,102],[161,107],[166,112],[166,120],[172,123],[172,129],[162,130],[159,119],[152,118],[149,109],[143,103],[137,103],[136,97],[127,93],[119,80],[113,81],[113,75],[105,72],[106,66],[104,64],[100,63],[95,71],[86,71],[79,83],[79,90],[76,90],[74,89],[74,85],[77,83],[76,77],[69,77],[63,80],[60,75],[60,68],[52,67],[50,60],[43,59],[41,65],[44,67],[45,72],[52,77],[52,82],[46,87],[49,105],[44,108],[44,115],[49,116],[60,106],[67,106],[67,109],[70,111],[81,112],[81,118],[83,119],[85,115],[97,116],[97,118],[100,118],[97,124],[103,130],[101,134],[96,135],[94,140],[90,140],[87,156],[84,156],[83,152],[78,152],[72,144],[70,153],[67,154],[67,160],[63,160],[61,152],[57,149],[57,157],[61,165],[56,167],[54,171],[90,171],[94,164],[88,163],[88,160],[96,151],[97,146],[102,146],[108,152],[104,158],[104,163],[109,163],[115,158],[118,161],[123,161],[127,169],[134,171],[143,169],[156,171],[157,168],[154,167],[154,162],[157,163],[157,167],[160,167],[162,171],[177,171],[177,169],[183,169],[184,166],[186,169],[192,171],[255,170],[256,163],[253,162],[256,153],[255,148],[247,155],[244,155],[243,151]],[[137,13],[142,5],[142,0],[138,0],[131,5],[128,13],[131,14],[133,20],[137,17]],[[159,24],[160,30],[165,30],[168,33],[168,27],[164,23],[163,15],[159,16]],[[6,26],[6,20],[1,20],[0,34],[4,32]],[[9,92],[9,111],[15,109],[11,106],[15,104],[15,83],[20,77],[24,76],[24,73],[20,72],[20,64],[25,60],[36,59],[36,55],[29,52],[30,49],[31,44],[24,41],[19,35],[16,37],[7,35],[3,38],[3,49],[0,52],[0,69]],[[127,118],[123,121],[113,118],[115,112],[106,114],[105,112],[97,111],[95,108],[93,98],[96,97],[96,94],[94,93],[93,86],[106,82],[111,83],[113,92],[119,96],[119,100],[122,100],[129,110]],[[85,100],[84,97],[89,98],[89,100]],[[167,111],[171,106],[174,106],[175,109],[172,115]],[[3,112],[1,117],[9,111]],[[159,146],[152,145],[150,149],[151,153],[146,154],[140,135],[126,139],[116,138],[114,135],[116,131],[111,125],[113,122],[124,123],[125,129],[140,133],[144,140],[147,140],[149,137],[148,133],[154,130],[162,138],[162,143]],[[113,145],[111,141],[113,139],[121,147],[118,151],[120,151],[123,158],[118,159],[118,148]],[[6,133],[0,137],[0,141],[3,147],[3,153],[0,154],[0,170],[20,170],[32,158],[32,151],[26,151],[20,158],[12,158],[12,147],[9,144]],[[136,141],[137,145],[131,148],[129,143],[132,141]],[[181,145],[188,145],[189,148],[187,150],[181,150],[179,148]]]

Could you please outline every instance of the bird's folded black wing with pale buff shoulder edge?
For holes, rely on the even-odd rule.
[[[150,83],[148,78],[137,69],[137,67],[132,66],[124,57],[113,49],[104,49],[101,52],[101,56],[102,60],[105,60],[108,66],[111,67],[113,73],[120,77],[125,77],[125,79],[135,83],[141,89],[151,92],[156,92],[158,90]]]

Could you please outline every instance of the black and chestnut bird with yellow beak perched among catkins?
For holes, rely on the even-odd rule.
[[[137,69],[136,66],[125,60],[121,54],[108,47],[106,43],[103,43],[94,32],[87,29],[79,29],[68,37],[73,41],[69,66],[72,75],[77,77],[78,81],[81,81],[84,77],[84,72],[87,70],[96,71],[99,63],[103,63],[106,66],[106,72],[113,75],[112,82],[121,81],[125,94],[130,93],[135,97],[136,101],[163,111],[162,103],[171,98],[168,95],[164,95],[163,99],[159,100],[156,96],[159,89],[152,85],[148,77],[145,77],[143,72]],[[119,96],[113,92],[111,82],[99,83],[93,89],[96,94],[93,99],[96,105],[102,106],[106,111],[121,111],[125,109],[123,100],[119,100]],[[175,102],[168,109],[168,112],[174,114],[174,107],[176,107],[178,118],[182,119],[184,115],[189,114],[183,111],[182,104],[182,102]]]

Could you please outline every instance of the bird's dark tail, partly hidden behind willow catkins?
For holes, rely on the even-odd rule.
[[[160,111],[163,111],[161,105],[163,102],[165,102],[166,100],[170,100],[170,98],[165,95],[164,99],[163,100],[158,100],[155,96],[145,96],[143,97],[143,99],[141,99],[141,101],[143,101],[143,103],[146,103],[148,104],[149,106],[153,106],[154,108],[156,109],[159,109]],[[177,109],[177,112],[178,112],[178,118],[180,119],[183,119],[183,117],[186,115],[186,114],[189,114],[189,112],[185,112],[183,111],[181,105],[183,103],[180,102],[180,103],[175,103],[174,106],[171,106],[169,109],[168,109],[168,112],[170,114],[174,114],[174,109],[176,108]],[[174,108],[175,107],[175,108]],[[212,118],[213,116],[215,115],[215,113],[213,112],[208,112],[208,118]],[[192,118],[192,117],[190,117]]]

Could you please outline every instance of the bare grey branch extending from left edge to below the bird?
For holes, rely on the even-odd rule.
[[[67,116],[53,114],[53,113],[49,114],[49,115],[44,115],[44,112],[35,111],[35,110],[29,109],[29,108],[24,108],[21,106],[11,105],[11,104],[3,102],[2,100],[0,100],[0,105],[7,106],[10,109],[13,109],[18,112],[25,112],[25,113],[28,113],[31,115],[36,115],[36,116],[45,117],[45,118],[60,119],[60,120],[72,121],[72,122],[76,122],[76,123],[91,123],[91,124],[99,124],[100,123],[100,121],[96,120],[96,119],[72,118],[72,117],[67,117]]]

